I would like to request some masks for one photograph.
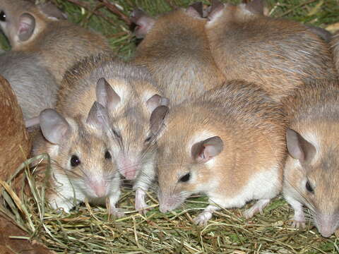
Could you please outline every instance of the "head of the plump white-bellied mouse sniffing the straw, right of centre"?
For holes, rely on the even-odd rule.
[[[160,130],[157,160],[160,212],[174,210],[192,193],[208,192],[211,168],[224,149],[222,139],[210,131],[208,123],[204,125],[197,114],[189,117],[184,110],[171,112],[162,120],[165,127]]]

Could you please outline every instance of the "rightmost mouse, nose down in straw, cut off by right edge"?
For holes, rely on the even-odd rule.
[[[322,236],[339,228],[339,81],[315,80],[283,100],[290,128],[283,193],[304,227],[303,205]]]

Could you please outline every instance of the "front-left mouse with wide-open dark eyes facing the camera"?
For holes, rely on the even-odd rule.
[[[121,217],[116,208],[120,178],[107,142],[107,109],[95,102],[87,117],[61,115],[54,109],[40,113],[41,136],[34,155],[51,157],[47,200],[54,208],[69,212],[78,202],[107,204],[109,213]],[[74,202],[75,201],[75,202]]]

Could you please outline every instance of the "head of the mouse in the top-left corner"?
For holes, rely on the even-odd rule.
[[[51,3],[38,6],[23,0],[0,3],[0,27],[14,50],[35,40],[49,20],[65,18]]]

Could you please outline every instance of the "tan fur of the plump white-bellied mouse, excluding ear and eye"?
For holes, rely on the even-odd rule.
[[[212,200],[215,196],[225,200],[219,204],[223,207],[240,207],[249,200],[239,198],[237,205],[227,200],[244,191],[255,174],[273,171],[272,183],[277,183],[270,194],[277,195],[285,159],[285,125],[280,105],[255,84],[242,80],[230,81],[192,102],[184,102],[169,113],[158,140],[160,193],[168,197],[170,193],[203,192]],[[224,148],[214,158],[213,166],[198,163],[191,155],[190,145],[205,139],[204,135],[223,141]],[[178,183],[187,172],[196,174],[196,181]],[[161,202],[167,202],[162,195],[160,207]]]

